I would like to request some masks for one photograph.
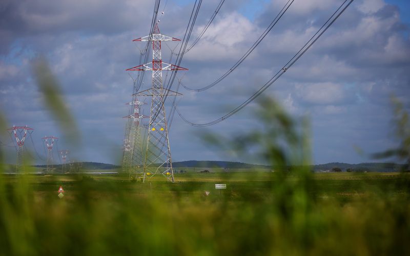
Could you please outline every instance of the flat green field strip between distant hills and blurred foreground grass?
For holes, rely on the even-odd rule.
[[[93,170],[104,172],[105,170]],[[30,188],[34,194],[40,196],[56,196],[59,186],[63,186],[66,198],[70,198],[78,190],[85,189],[90,194],[99,198],[101,194],[127,193],[135,195],[161,194],[163,197],[184,196],[205,197],[204,191],[211,192],[208,200],[220,199],[236,201],[248,198],[262,200],[272,196],[272,189],[277,179],[272,172],[213,172],[213,173],[178,173],[175,175],[175,183],[167,182],[162,175],[155,175],[142,183],[140,178],[130,180],[128,174],[50,174],[50,175],[26,175]],[[133,175],[134,176],[134,175]],[[289,175],[288,182],[296,182],[297,176]],[[372,193],[406,193],[407,182],[410,174],[401,173],[315,173],[312,175],[315,185],[309,193],[317,198],[340,198],[350,200],[363,197],[367,192]],[[14,183],[19,176],[5,175],[6,183]],[[215,189],[216,183],[227,184],[227,189]],[[161,196],[158,198],[160,199]]]

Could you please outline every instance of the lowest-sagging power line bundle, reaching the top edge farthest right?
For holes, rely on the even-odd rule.
[[[251,103],[253,100],[255,100],[260,94],[262,94],[263,91],[265,91],[266,89],[268,89],[276,80],[278,80],[306,51],[308,51],[311,46],[320,38],[321,35],[323,35],[323,33],[329,29],[329,27],[336,21],[337,18],[339,18],[339,16],[347,9],[348,6],[350,6],[352,4],[354,0],[350,0],[350,2],[348,2],[348,4],[339,12],[339,10],[344,6],[344,4],[347,2],[347,0],[345,0],[340,7],[332,14],[332,16],[327,19],[327,21],[325,22],[325,24],[323,24],[323,26],[315,33],[315,35],[312,36],[312,38],[305,43],[305,45],[303,45],[303,47],[299,50],[298,53],[296,53],[293,58],[291,60],[288,61],[288,63],[286,63],[281,69],[280,71],[278,71],[275,76],[273,76],[267,83],[265,83],[261,88],[259,88],[258,91],[255,92],[255,94],[253,94],[249,99],[247,99],[246,101],[244,101],[242,104],[240,104],[238,107],[236,107],[235,109],[233,109],[232,111],[230,111],[229,113],[223,115],[222,117],[220,117],[219,119],[216,119],[214,121],[208,122],[208,123],[204,123],[204,124],[195,124],[192,122],[189,122],[185,117],[183,117],[183,115],[179,112],[178,109],[176,109],[176,111],[178,112],[179,116],[181,117],[181,119],[183,121],[185,121],[186,123],[192,125],[192,126],[196,126],[196,127],[205,127],[205,126],[211,126],[214,124],[217,124],[219,122],[222,122],[226,119],[228,119],[229,117],[231,117],[233,114],[235,114],[236,112],[238,112],[239,110],[241,110],[242,108],[244,108],[245,106],[247,106],[249,103]],[[338,13],[339,12],[339,13]],[[338,14],[337,14],[338,13]],[[337,14],[337,15],[336,15]],[[336,16],[335,16],[336,15]],[[335,17],[334,17],[335,16]],[[334,17],[332,19],[332,17]],[[329,22],[332,19],[331,22]],[[327,24],[327,26],[326,26]],[[325,27],[326,26],[326,27]],[[324,28],[325,27],[325,28]],[[323,29],[324,28],[324,29]],[[323,29],[323,30],[322,30]],[[322,31],[321,31],[322,30]],[[321,31],[321,32],[320,32]],[[320,32],[320,34],[319,34]],[[318,35],[319,34],[319,35]],[[318,35],[316,38],[315,36]],[[310,44],[309,44],[310,42]],[[309,44],[309,45],[308,45]],[[306,48],[305,46],[308,45]]]

